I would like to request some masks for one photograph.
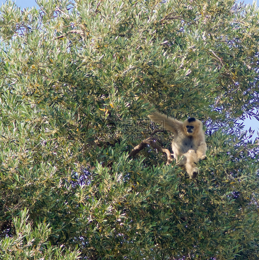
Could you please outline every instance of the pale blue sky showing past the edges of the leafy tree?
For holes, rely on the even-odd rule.
[[[0,0],[2,3],[4,3],[4,0]],[[26,7],[32,7],[33,5],[37,5],[35,0],[16,0],[14,1],[16,2],[16,5],[19,6],[20,8],[26,8]],[[242,2],[242,1],[241,1]],[[252,4],[254,1],[253,0],[245,0],[244,3],[245,4]],[[259,2],[259,1],[258,1]],[[247,118],[244,121],[244,125],[245,128],[244,130],[248,130],[250,127],[255,130],[255,134],[254,134],[254,138],[257,136],[256,132],[259,131],[259,121],[257,121],[256,119],[252,118],[249,119]],[[253,139],[254,139],[253,138]]]

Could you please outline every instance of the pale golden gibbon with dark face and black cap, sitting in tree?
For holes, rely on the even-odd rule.
[[[143,96],[137,96],[136,100],[144,100],[149,104]],[[150,104],[149,108],[152,108]],[[207,151],[201,121],[191,117],[181,122],[156,110],[148,117],[161,124],[166,130],[173,132],[172,150],[176,163],[185,167],[189,178],[194,179],[198,175],[196,163],[206,158]]]

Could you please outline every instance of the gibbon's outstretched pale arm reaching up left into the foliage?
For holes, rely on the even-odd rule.
[[[136,100],[144,100],[145,103],[149,104],[148,107],[152,108],[152,105],[143,96],[136,97]],[[168,117],[165,114],[161,114],[158,111],[151,112],[148,117],[153,122],[160,124],[166,130],[173,132],[174,134],[178,134],[179,131],[183,129],[183,122],[180,122],[172,117]]]

